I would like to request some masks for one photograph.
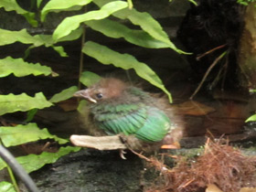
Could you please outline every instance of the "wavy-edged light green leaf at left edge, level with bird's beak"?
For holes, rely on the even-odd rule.
[[[42,92],[37,92],[35,97],[30,97],[26,93],[0,95],[0,115],[8,112],[27,112],[35,108],[43,109],[51,105]]]

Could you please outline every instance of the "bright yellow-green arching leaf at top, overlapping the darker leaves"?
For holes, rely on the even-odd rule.
[[[56,28],[53,33],[53,39],[57,41],[61,37],[68,36],[72,30],[80,27],[80,23],[89,21],[89,20],[100,20],[107,16],[110,16],[112,13],[127,7],[127,3],[123,1],[115,1],[110,4],[103,5],[100,10],[91,11],[86,14],[78,16],[69,16],[66,17]]]

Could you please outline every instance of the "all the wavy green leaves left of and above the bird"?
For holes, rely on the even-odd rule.
[[[45,22],[51,12],[84,10],[85,6],[89,4],[97,5],[99,8],[98,10],[86,11],[84,14],[66,17],[50,35],[37,34],[33,36],[27,32],[26,28],[17,31],[0,28],[0,46],[13,45],[16,42],[29,45],[23,59],[14,59],[10,56],[0,59],[0,78],[11,74],[16,78],[28,75],[57,77],[59,74],[49,67],[40,63],[27,62],[26,58],[30,54],[30,50],[43,46],[45,48],[53,48],[59,53],[60,57],[68,57],[64,48],[59,46],[58,43],[73,41],[82,37],[85,34],[85,27],[83,26],[91,27],[91,29],[100,32],[106,37],[123,38],[135,46],[171,48],[177,53],[184,53],[170,41],[160,24],[148,13],[137,11],[133,7],[131,0],[128,2],[121,0],[49,0],[46,5],[41,5],[41,2],[41,0],[37,0],[37,7],[33,7],[33,10],[36,10],[35,13],[20,7],[16,0],[3,0],[0,2],[0,8],[3,7],[7,12],[15,11],[17,15],[24,16],[32,27],[37,27],[38,24]],[[40,20],[36,18],[36,15],[39,16]],[[140,27],[140,29],[127,27],[124,25],[124,20],[126,23],[130,22],[131,25],[137,26],[136,28]],[[85,43],[82,41],[81,44],[82,49],[80,51],[82,53],[99,60],[104,65],[112,64],[122,69],[134,69],[144,80],[148,80],[162,91],[165,91],[169,101],[172,101],[171,94],[165,89],[163,82],[155,71],[145,63],[138,61],[132,55],[118,53],[96,42],[87,41]],[[89,71],[80,71],[78,79],[84,85],[89,86],[99,80],[100,77]],[[37,92],[35,96],[29,96],[25,92],[19,95],[13,93],[0,95],[0,115],[10,112],[27,112],[27,120],[24,120],[24,124],[0,127],[0,140],[5,146],[16,146],[45,139],[55,140],[59,144],[66,144],[69,142],[68,140],[48,133],[47,128],[40,129],[36,123],[27,122],[33,119],[37,110],[50,107],[59,101],[68,100],[75,91],[78,91],[78,87],[72,86],[53,95],[50,100],[44,96],[43,92]],[[25,166],[27,172],[31,172],[45,164],[55,162],[62,155],[78,150],[80,150],[79,147],[60,147],[57,153],[44,152],[41,155],[19,156],[16,159]],[[0,162],[0,169],[4,167],[5,164]],[[0,188],[1,191],[14,191],[12,185],[6,182],[0,183]]]

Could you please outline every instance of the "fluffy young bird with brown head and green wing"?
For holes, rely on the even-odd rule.
[[[134,151],[150,153],[170,138],[176,142],[172,133],[182,137],[181,131],[175,131],[176,116],[165,109],[165,101],[123,80],[101,78],[87,89],[76,91],[74,97],[89,101],[80,113],[93,135],[119,134]]]

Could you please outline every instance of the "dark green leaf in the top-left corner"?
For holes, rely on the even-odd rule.
[[[1,0],[0,8],[1,7],[4,7],[5,11],[16,11],[17,14],[25,16],[30,25],[32,25],[33,27],[37,27],[37,20],[35,20],[35,14],[21,8],[16,3],[16,0]]]

